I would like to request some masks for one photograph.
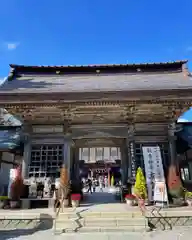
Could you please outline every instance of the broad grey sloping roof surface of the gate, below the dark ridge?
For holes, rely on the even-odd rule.
[[[138,74],[23,75],[6,81],[0,93],[70,93],[192,89],[192,78],[184,72]]]

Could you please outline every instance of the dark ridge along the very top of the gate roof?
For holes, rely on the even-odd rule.
[[[27,66],[10,64],[11,71],[14,74],[18,73],[55,73],[62,74],[75,74],[75,73],[122,73],[122,72],[154,72],[164,70],[179,70],[187,63],[187,60],[174,61],[174,62],[153,62],[153,63],[135,63],[135,64],[95,64],[95,65],[67,65],[67,66]]]

